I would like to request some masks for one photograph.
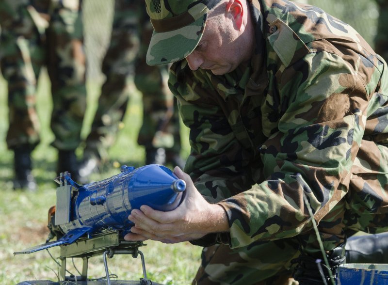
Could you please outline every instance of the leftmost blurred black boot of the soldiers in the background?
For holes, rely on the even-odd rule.
[[[36,190],[36,182],[32,175],[31,148],[28,145],[16,147],[14,154],[14,189]]]

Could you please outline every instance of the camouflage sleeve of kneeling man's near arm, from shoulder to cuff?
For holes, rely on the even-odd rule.
[[[311,226],[304,196],[319,222],[346,194],[371,94],[363,68],[320,52],[283,73],[275,88],[287,109],[260,147],[266,180],[220,203],[231,247],[295,236]]]

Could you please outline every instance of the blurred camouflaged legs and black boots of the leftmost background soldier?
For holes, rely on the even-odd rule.
[[[81,0],[1,0],[0,63],[8,81],[7,146],[15,153],[14,188],[33,190],[31,152],[39,143],[36,83],[43,66],[51,81],[52,145],[58,173],[78,179],[79,146],[86,107]]]

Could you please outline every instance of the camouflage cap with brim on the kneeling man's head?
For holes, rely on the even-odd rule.
[[[220,0],[146,0],[154,32],[148,47],[149,65],[173,63],[198,45],[207,13]]]

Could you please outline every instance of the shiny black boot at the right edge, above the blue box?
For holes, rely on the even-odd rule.
[[[388,233],[348,238],[346,263],[388,263]]]

